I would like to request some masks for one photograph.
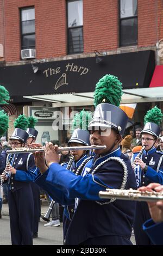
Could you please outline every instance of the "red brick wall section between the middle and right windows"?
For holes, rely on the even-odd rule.
[[[84,52],[118,46],[118,4],[115,0],[84,0]]]

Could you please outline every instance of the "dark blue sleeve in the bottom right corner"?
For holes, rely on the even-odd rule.
[[[143,224],[143,230],[152,240],[154,245],[163,245],[163,222],[155,223],[152,219],[148,220]]]

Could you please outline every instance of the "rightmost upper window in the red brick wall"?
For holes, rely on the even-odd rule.
[[[137,44],[137,0],[120,0],[120,46]]]

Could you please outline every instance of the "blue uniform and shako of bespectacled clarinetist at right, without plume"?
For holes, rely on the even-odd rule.
[[[147,133],[154,136],[155,140],[160,134],[160,127],[154,123],[148,122],[141,131],[141,135]],[[131,162],[135,160],[138,153],[134,153]],[[157,182],[163,184],[163,153],[157,151],[153,145],[148,151],[144,150],[141,159],[146,163],[146,170],[142,170],[139,164],[134,168],[137,187],[147,186],[149,183]],[[134,234],[136,245],[153,245],[142,227],[143,223],[151,218],[146,202],[136,202],[136,212],[134,221]]]

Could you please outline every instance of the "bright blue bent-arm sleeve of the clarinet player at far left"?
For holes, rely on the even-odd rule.
[[[35,166],[34,156],[31,154],[27,161],[27,171],[16,170],[15,180],[24,182],[34,181],[38,172],[38,168]]]

